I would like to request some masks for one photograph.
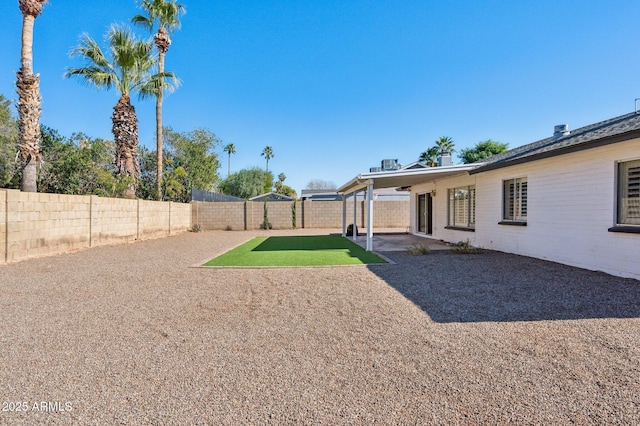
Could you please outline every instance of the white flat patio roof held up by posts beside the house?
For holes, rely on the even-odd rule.
[[[455,166],[428,167],[424,169],[395,170],[391,172],[361,173],[337,189],[338,193],[350,194],[366,189],[408,187],[445,177],[465,174],[484,163],[459,164]]]

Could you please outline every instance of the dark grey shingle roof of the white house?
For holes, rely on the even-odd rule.
[[[640,137],[640,112],[629,113],[572,130],[566,136],[549,137],[487,158],[470,171],[475,174],[541,158]]]

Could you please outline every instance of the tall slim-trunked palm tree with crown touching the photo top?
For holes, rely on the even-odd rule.
[[[136,15],[131,21],[153,32],[157,23],[158,31],[153,40],[158,49],[158,73],[164,72],[164,57],[169,51],[171,38],[169,33],[180,28],[180,15],[185,13],[185,8],[176,3],[177,0],[142,0],[141,7],[146,12],[144,15]],[[162,87],[156,93],[156,152],[158,157],[158,199],[162,199]]]

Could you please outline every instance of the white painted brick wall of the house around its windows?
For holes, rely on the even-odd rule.
[[[461,178],[414,186],[436,190],[435,238],[469,240],[487,249],[548,259],[613,275],[640,279],[640,234],[608,232],[615,223],[616,162],[640,158],[640,140],[551,157]],[[527,226],[499,225],[502,181],[527,177]],[[447,188],[476,185],[475,233],[444,229]]]

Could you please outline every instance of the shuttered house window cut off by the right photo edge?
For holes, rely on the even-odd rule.
[[[640,225],[640,160],[618,163],[619,225]]]

